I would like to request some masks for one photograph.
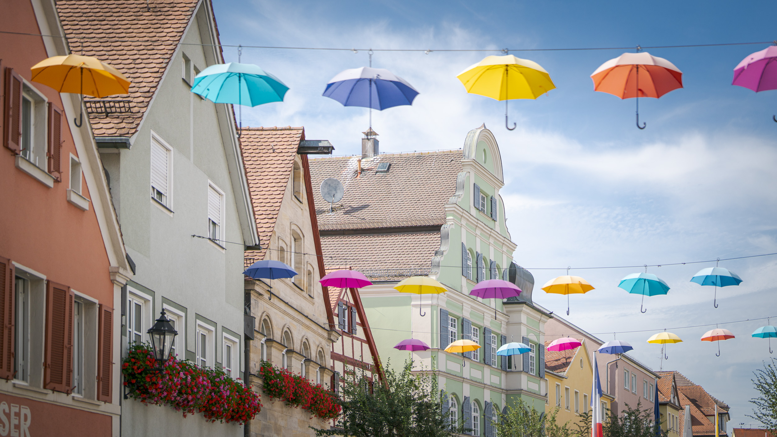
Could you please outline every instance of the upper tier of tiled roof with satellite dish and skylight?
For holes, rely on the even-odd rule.
[[[361,161],[359,156],[310,160],[319,229],[365,229],[442,225],[444,205],[456,191],[462,171],[462,151],[386,153]],[[375,173],[378,163],[390,163],[388,173]],[[335,177],[345,187],[343,200],[329,214],[329,202],[319,186]]]

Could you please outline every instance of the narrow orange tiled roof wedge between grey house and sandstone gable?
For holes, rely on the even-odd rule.
[[[299,142],[305,139],[305,129],[243,128],[241,132],[240,149],[262,246],[262,250],[246,251],[246,263],[249,263],[250,259],[262,260],[270,244],[280,203],[294,169],[294,157]]]

